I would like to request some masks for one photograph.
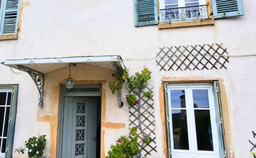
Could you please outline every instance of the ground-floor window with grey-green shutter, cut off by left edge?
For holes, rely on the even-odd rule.
[[[18,86],[0,86],[0,157],[11,158]]]

